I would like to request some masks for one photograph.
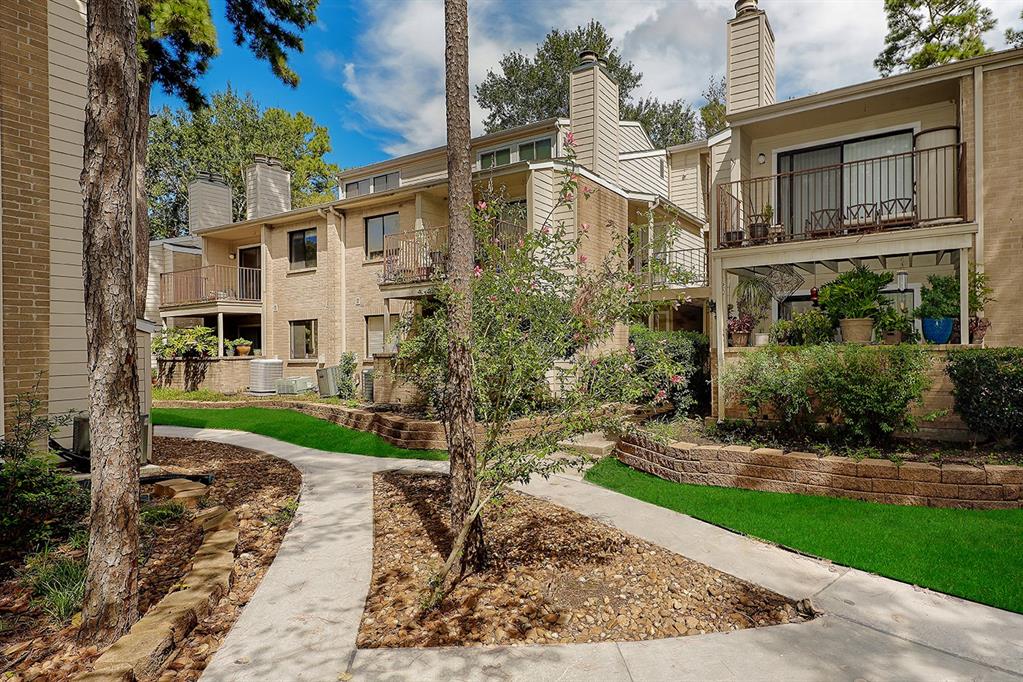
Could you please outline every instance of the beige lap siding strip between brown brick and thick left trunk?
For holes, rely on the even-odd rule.
[[[86,100],[85,2],[48,0],[50,126],[50,411],[87,410],[82,280]]]

